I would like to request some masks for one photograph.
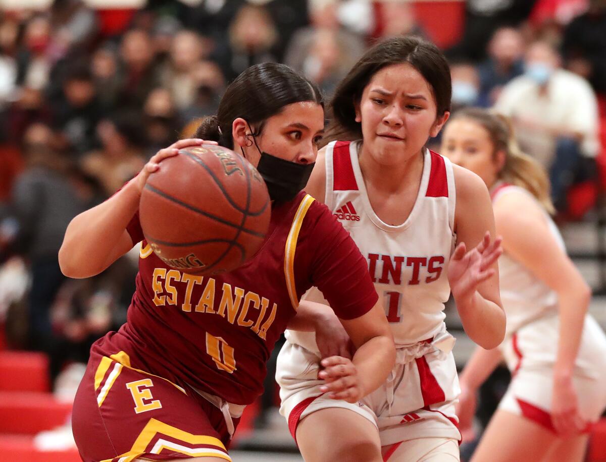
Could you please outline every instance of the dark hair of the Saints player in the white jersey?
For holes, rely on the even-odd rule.
[[[323,144],[335,139],[360,139],[362,125],[356,122],[355,104],[370,79],[382,68],[409,63],[430,85],[437,116],[450,111],[450,68],[444,54],[431,42],[415,36],[384,39],[369,48],[336,88],[330,102],[331,122]]]

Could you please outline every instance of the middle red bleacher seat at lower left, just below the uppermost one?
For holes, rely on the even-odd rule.
[[[35,435],[67,421],[72,403],[61,403],[49,393],[0,392],[0,434]]]

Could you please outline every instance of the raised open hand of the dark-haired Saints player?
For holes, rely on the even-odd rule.
[[[481,243],[467,251],[461,242],[450,257],[448,282],[456,302],[469,300],[482,282],[494,275],[491,268],[503,253],[501,237],[490,242],[490,233],[484,235]]]

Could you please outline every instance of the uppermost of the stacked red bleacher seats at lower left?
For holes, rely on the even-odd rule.
[[[0,391],[47,392],[48,358],[43,353],[0,351]]]

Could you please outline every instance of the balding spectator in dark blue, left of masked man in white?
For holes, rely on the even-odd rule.
[[[480,101],[489,107],[503,85],[524,73],[524,38],[513,27],[498,28],[488,43],[488,58],[478,66]]]

